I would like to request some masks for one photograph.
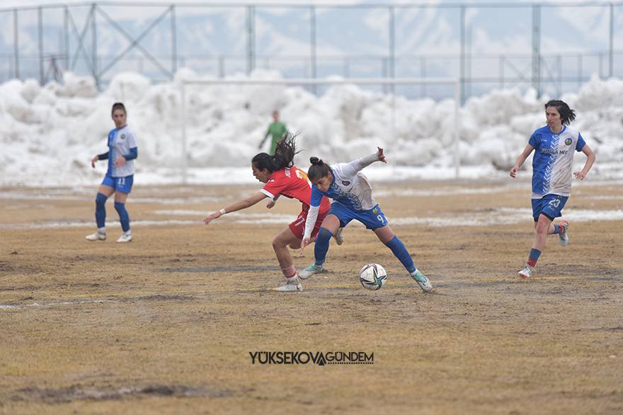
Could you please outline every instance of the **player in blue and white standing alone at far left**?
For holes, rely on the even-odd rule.
[[[95,199],[95,220],[98,230],[96,233],[87,235],[86,239],[106,239],[106,199],[115,194],[115,210],[119,214],[119,221],[123,234],[117,242],[130,242],[130,216],[125,210],[125,201],[132,190],[134,180],[134,159],[138,156],[137,140],[134,131],[127,126],[127,112],[122,103],[115,103],[112,110],[115,128],[108,133],[108,151],[98,154],[91,160],[91,167],[95,168],[98,160],[108,160],[108,170],[104,180],[98,189]]]

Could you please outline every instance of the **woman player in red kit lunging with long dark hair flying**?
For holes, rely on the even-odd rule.
[[[259,153],[251,160],[253,176],[260,182],[266,183],[261,191],[246,199],[236,201],[236,203],[211,214],[203,220],[207,225],[224,214],[253,206],[265,197],[270,198],[268,205],[266,205],[268,209],[275,206],[275,201],[277,201],[280,195],[290,199],[298,199],[302,203],[301,213],[294,222],[290,223],[290,226],[275,236],[273,240],[273,250],[275,250],[279,266],[286,280],[286,284],[275,288],[275,291],[282,292],[303,291],[303,286],[297,278],[297,271],[287,247],[290,246],[292,249],[297,249],[301,246],[305,219],[309,211],[309,199],[311,197],[311,183],[307,179],[307,174],[294,165],[294,158],[297,153],[294,139],[295,137],[288,133],[286,138],[277,144],[274,156],[270,156],[267,153]],[[309,237],[313,238],[316,236],[329,207],[328,199],[319,199],[319,209],[316,209],[316,216],[314,216],[314,221],[311,222],[312,229],[309,231]],[[341,245],[342,241],[342,235],[338,233],[336,242],[338,245]]]

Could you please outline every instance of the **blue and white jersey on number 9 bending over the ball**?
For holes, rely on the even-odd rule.
[[[323,196],[343,204],[354,211],[367,211],[377,205],[372,197],[372,186],[367,177],[357,168],[355,163],[337,163],[331,165],[333,182],[326,192],[321,192],[317,187],[311,191],[311,206],[319,206]]]

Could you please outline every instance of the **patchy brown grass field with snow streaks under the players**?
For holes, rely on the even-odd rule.
[[[574,182],[571,243],[550,237],[530,280],[527,181],[373,185],[434,293],[355,224],[304,292],[270,291],[270,242],[299,204],[201,222],[258,185],[137,181],[129,244],[118,223],[84,240],[95,187],[1,189],[0,413],[623,413],[621,182]],[[367,262],[388,271],[380,291],[358,282]],[[253,351],[374,364],[252,364]]]

